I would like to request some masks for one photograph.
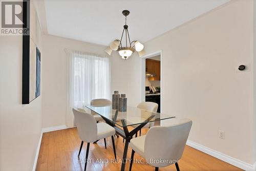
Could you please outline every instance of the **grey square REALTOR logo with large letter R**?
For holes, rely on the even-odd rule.
[[[29,35],[29,1],[1,1],[1,35]]]

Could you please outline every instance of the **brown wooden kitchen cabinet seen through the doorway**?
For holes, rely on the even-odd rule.
[[[154,77],[148,77],[148,80],[160,80],[160,60],[146,59],[146,72],[156,74]]]

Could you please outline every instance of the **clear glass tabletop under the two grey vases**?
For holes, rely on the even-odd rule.
[[[112,105],[86,105],[86,108],[121,127],[175,118],[175,116],[150,112],[132,106],[127,106],[126,112],[113,110]]]

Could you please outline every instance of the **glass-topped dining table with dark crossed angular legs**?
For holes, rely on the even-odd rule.
[[[175,118],[175,116],[150,112],[132,106],[127,106],[126,112],[113,110],[112,105],[86,105],[86,108],[99,114],[106,123],[114,127],[117,135],[120,135],[125,139],[121,171],[123,171],[125,168],[129,142],[134,135],[137,136],[137,132],[142,129],[144,125],[146,125],[148,122]],[[136,126],[133,126],[134,129],[129,131],[127,126],[132,125]]]

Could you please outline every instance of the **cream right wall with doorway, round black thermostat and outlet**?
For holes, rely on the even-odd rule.
[[[162,112],[193,120],[189,140],[249,164],[255,162],[252,3],[231,1],[144,44],[146,54],[162,50]],[[138,73],[141,59],[133,59]],[[241,64],[249,69],[238,72]]]

